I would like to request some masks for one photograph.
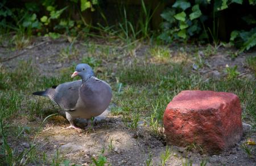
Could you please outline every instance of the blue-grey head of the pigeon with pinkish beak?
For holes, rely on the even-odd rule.
[[[94,76],[92,67],[90,67],[86,63],[80,63],[76,66],[76,70],[71,75],[71,78],[74,78],[75,76],[79,75],[82,79],[86,80],[90,78],[91,76]]]

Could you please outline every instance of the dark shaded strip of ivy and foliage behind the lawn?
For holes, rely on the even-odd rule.
[[[77,36],[81,32],[85,36],[114,35],[127,42],[196,41],[213,42],[216,47],[229,42],[241,52],[256,45],[255,0],[138,0],[139,7],[127,2],[113,5],[100,0],[5,0],[0,3],[1,34],[15,31],[18,35],[56,39],[60,34]],[[163,21],[155,29],[152,16],[161,4],[166,6],[160,14]]]

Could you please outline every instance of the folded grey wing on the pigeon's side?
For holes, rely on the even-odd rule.
[[[82,80],[60,84],[56,87],[55,94],[50,98],[62,109],[74,110],[77,100],[79,99],[79,89],[81,85]]]

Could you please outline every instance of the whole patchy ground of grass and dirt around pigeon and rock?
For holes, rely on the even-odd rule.
[[[1,162],[9,165],[253,165],[256,138],[255,50],[237,54],[211,45],[37,37],[20,49],[0,48]],[[7,59],[14,57],[11,59]],[[63,112],[32,92],[69,82],[88,63],[110,84],[108,116],[94,130],[64,129]],[[78,78],[77,78],[78,79]],[[166,146],[163,113],[183,90],[235,93],[242,121],[253,126],[230,151],[208,156],[195,144]],[[56,115],[57,114],[57,115]],[[251,148],[251,150],[248,148]],[[5,165],[3,164],[3,165]]]

